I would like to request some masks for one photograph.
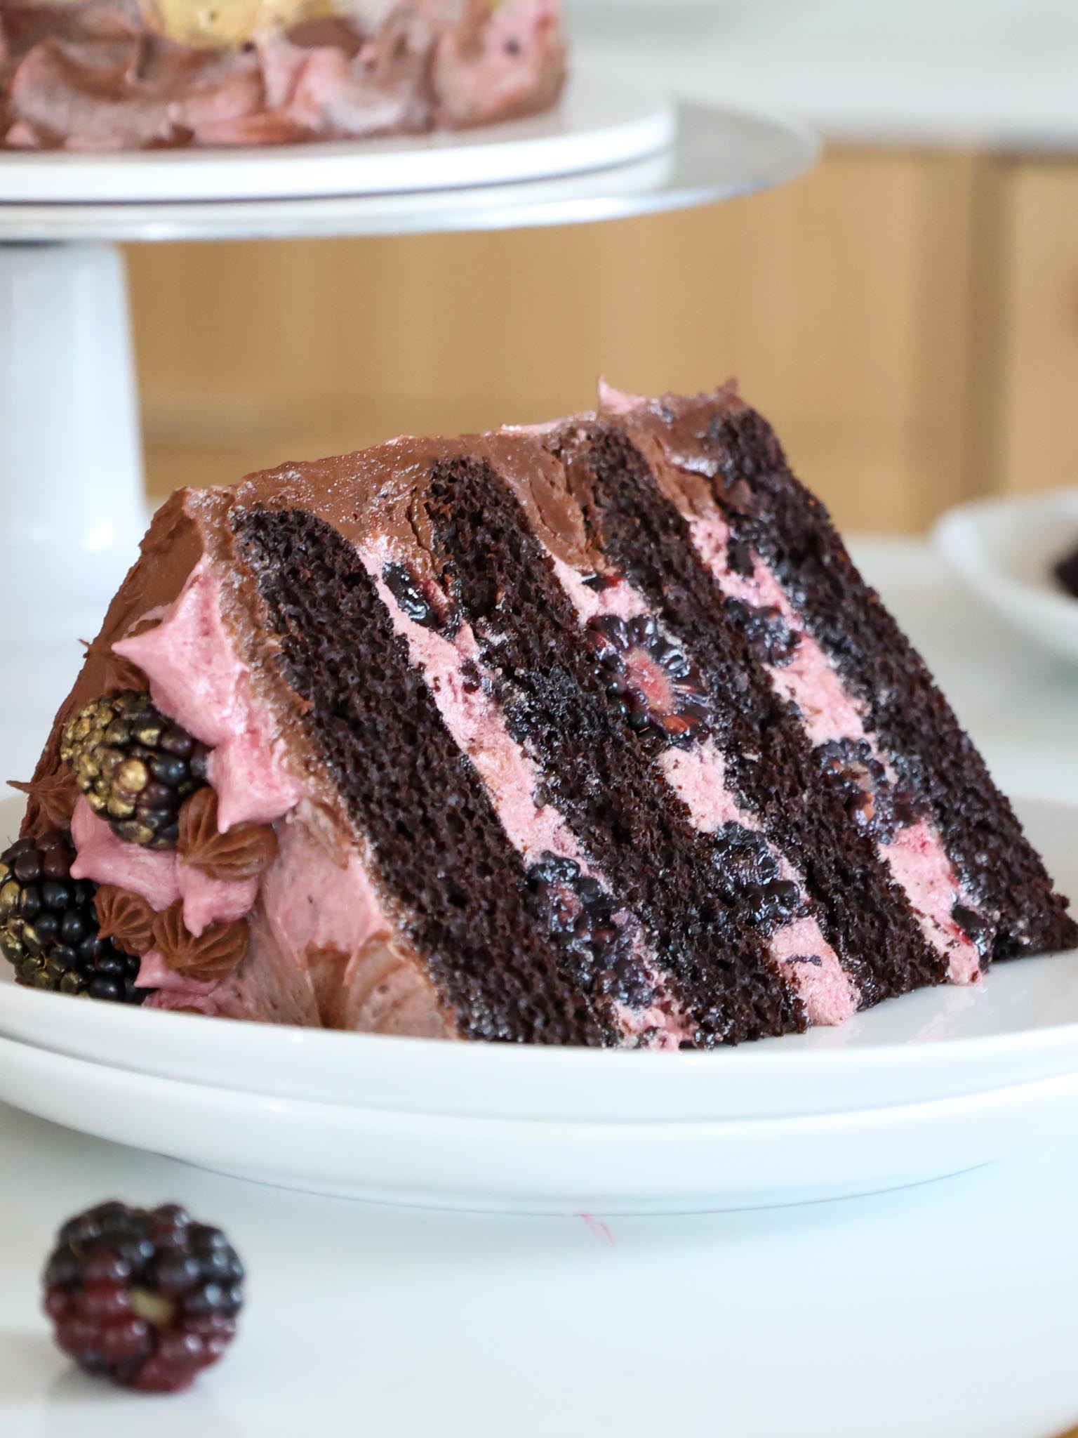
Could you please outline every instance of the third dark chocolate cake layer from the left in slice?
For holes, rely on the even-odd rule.
[[[562,449],[592,539],[647,597],[700,666],[729,782],[798,863],[821,925],[862,1004],[946,978],[868,837],[851,824],[803,728],[773,692],[730,617],[686,523],[640,452],[611,426],[576,430]]]

